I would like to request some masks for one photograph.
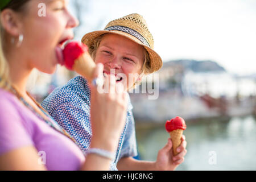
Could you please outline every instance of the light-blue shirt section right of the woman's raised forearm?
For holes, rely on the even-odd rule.
[[[133,106],[130,103],[128,104],[128,112],[127,112],[127,129],[125,138],[123,140],[123,146],[122,150],[119,156],[119,159],[123,157],[134,157],[138,155],[137,151],[137,141],[136,141],[136,135],[135,135],[135,123],[134,123],[134,117],[133,112],[131,109],[133,109]]]

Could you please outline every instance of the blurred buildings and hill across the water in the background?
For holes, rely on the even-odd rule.
[[[148,93],[130,94],[137,121],[165,122],[176,115],[189,120],[255,114],[253,76],[232,75],[209,60],[168,61],[154,74],[159,75],[158,99],[148,100]]]

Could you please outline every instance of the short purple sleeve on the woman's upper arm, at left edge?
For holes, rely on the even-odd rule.
[[[34,145],[17,105],[7,99],[0,103],[0,155],[17,148]]]

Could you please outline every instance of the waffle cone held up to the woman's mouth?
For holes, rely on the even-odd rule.
[[[88,80],[93,79],[93,72],[95,68],[96,64],[88,52],[83,53],[79,58],[77,58],[72,67],[73,71],[79,73],[79,75]]]

